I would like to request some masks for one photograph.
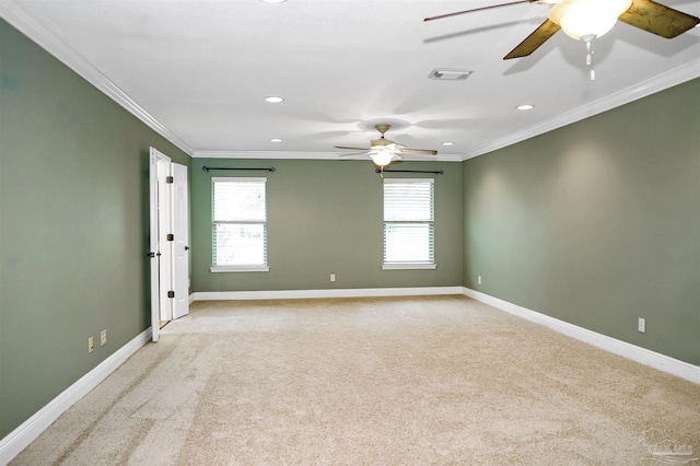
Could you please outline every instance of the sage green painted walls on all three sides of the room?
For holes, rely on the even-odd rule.
[[[149,327],[150,145],[190,167],[194,292],[463,284],[700,364],[699,91],[398,165],[445,172],[438,269],[383,271],[371,163],[190,160],[0,20],[0,438]],[[210,178],[241,174],[269,179],[271,269],[211,273]]]

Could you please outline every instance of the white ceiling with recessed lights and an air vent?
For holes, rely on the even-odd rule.
[[[700,16],[698,0],[660,1]],[[665,39],[618,22],[590,81],[563,32],[502,60],[547,5],[422,21],[495,3],[0,0],[0,13],[195,156],[337,158],[388,123],[389,139],[465,160],[700,75],[700,28]],[[433,81],[434,68],[474,74]]]

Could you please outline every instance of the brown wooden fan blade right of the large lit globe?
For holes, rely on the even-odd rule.
[[[657,36],[674,38],[693,28],[700,19],[652,0],[633,0],[619,20]]]

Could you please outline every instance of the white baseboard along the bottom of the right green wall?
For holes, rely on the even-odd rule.
[[[602,335],[583,327],[579,327],[568,322],[521,307],[517,304],[493,298],[489,294],[481,293],[469,288],[463,289],[464,294],[485,304],[505,311],[509,314],[516,315],[536,324],[544,325],[552,330],[575,338],[594,347],[600,348],[614,354],[621,356],[632,361],[649,365],[660,371],[677,375],[687,381],[700,384],[700,366],[690,364],[685,361],[670,358],[626,341],[618,340],[606,335]]]

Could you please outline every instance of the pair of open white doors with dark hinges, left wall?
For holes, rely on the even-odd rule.
[[[151,329],[189,313],[187,167],[151,148],[149,160]]]

